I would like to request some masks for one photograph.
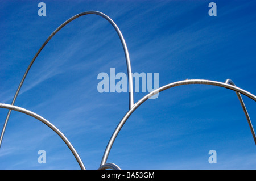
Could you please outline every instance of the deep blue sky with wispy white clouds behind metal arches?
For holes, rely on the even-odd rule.
[[[38,16],[38,3],[46,16]],[[217,16],[209,16],[216,2]],[[254,1],[0,1],[0,100],[11,104],[35,53],[65,20],[101,11],[126,40],[131,69],[159,73],[159,86],[209,79],[256,94]],[[114,28],[82,16],[39,54],[15,105],[51,121],[71,141],[86,169],[98,169],[115,127],[129,109],[128,93],[100,93],[101,72],[126,70]],[[135,93],[134,102],[146,93]],[[256,104],[243,96],[256,125]],[[7,110],[0,110],[0,127]],[[46,151],[45,164],[38,151]],[[217,151],[210,164],[209,150]],[[121,169],[256,169],[256,147],[235,92],[186,85],[160,92],[129,117],[108,162]],[[13,111],[0,149],[0,169],[80,169],[57,134]]]

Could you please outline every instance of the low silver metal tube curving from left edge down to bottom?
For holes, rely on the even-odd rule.
[[[10,104],[2,104],[2,103],[0,103],[0,108],[5,108],[5,109],[9,109],[9,110],[14,110],[14,111],[25,113],[26,115],[32,116],[35,119],[38,119],[42,123],[46,124],[49,128],[51,128],[53,131],[55,131],[55,133],[57,133],[60,136],[60,138],[65,142],[65,144],[67,144],[68,148],[72,151],[72,153],[75,156],[77,162],[79,163],[79,166],[81,167],[81,169],[85,170],[84,163],[82,163],[82,160],[79,157],[79,154],[76,152],[76,150],[72,146],[71,142],[69,142],[67,137],[65,137],[65,135],[61,131],[59,131],[59,129],[57,129],[55,127],[55,125],[53,125],[51,122],[49,122],[48,120],[44,119],[42,116],[37,115],[34,112],[28,111],[28,110],[26,110],[24,108],[21,108],[21,107],[18,107],[18,106],[13,106],[13,105],[10,105]]]

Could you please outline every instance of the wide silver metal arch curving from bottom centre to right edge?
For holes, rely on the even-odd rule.
[[[144,103],[147,99],[149,99],[151,96],[154,96],[155,94],[158,94],[159,92],[162,92],[164,90],[170,89],[172,87],[181,86],[181,85],[191,85],[191,84],[203,84],[203,85],[212,85],[212,86],[218,86],[218,87],[224,87],[226,89],[230,89],[236,92],[240,92],[241,94],[253,99],[256,101],[256,96],[251,94],[250,92],[247,92],[243,89],[240,89],[233,85],[228,85],[226,83],[217,82],[217,81],[208,81],[208,80],[202,80],[202,79],[192,79],[192,80],[185,80],[185,81],[178,81],[174,83],[170,83],[168,85],[162,86],[159,89],[156,89],[146,96],[144,96],[142,99],[138,100],[137,103],[134,104],[133,108],[131,108],[126,115],[122,118],[122,120],[119,122],[117,128],[115,128],[114,133],[112,134],[112,137],[110,138],[108,145],[106,146],[104,155],[101,160],[101,166],[106,163],[106,160],[108,159],[109,152],[114,144],[115,138],[117,137],[118,133],[122,129],[123,125],[125,124],[126,120],[130,117],[130,115],[139,107],[142,103]]]

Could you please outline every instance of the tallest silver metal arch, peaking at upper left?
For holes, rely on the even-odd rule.
[[[125,51],[125,58],[126,58],[126,66],[127,66],[127,72],[128,72],[128,82],[129,82],[129,108],[131,109],[133,107],[134,104],[134,97],[133,97],[133,77],[131,74],[131,63],[130,63],[130,57],[129,57],[129,52],[125,43],[125,39],[123,38],[123,35],[121,33],[121,31],[119,30],[118,26],[113,22],[112,19],[109,18],[109,16],[103,14],[102,12],[98,12],[98,11],[86,11],[86,12],[82,12],[80,14],[77,14],[75,16],[73,16],[72,18],[68,19],[67,21],[65,21],[63,24],[61,24],[61,26],[59,26],[55,31],[52,32],[52,34],[48,37],[48,39],[44,42],[44,44],[42,45],[42,47],[40,47],[40,49],[38,50],[38,52],[35,54],[34,58],[32,59],[32,61],[30,62],[30,65],[28,65],[28,68],[26,70],[26,72],[23,75],[22,81],[20,81],[19,83],[19,87],[16,90],[16,93],[14,95],[13,98],[13,102],[11,103],[11,105],[14,105],[15,100],[19,94],[20,88],[22,87],[22,84],[28,74],[28,71],[30,70],[32,64],[34,63],[36,57],[38,57],[38,54],[41,52],[41,50],[44,48],[44,46],[46,46],[46,44],[48,43],[49,40],[51,40],[51,38],[58,32],[61,30],[61,28],[63,28],[65,25],[67,25],[69,22],[72,22],[72,20],[79,18],[80,16],[83,15],[88,15],[88,14],[95,14],[95,15],[99,15],[102,18],[105,18],[106,20],[108,20],[108,22],[110,24],[112,24],[112,26],[114,27],[115,31],[117,32],[119,39],[121,40],[122,46],[123,46],[123,50]],[[1,137],[0,137],[0,147],[2,144],[2,140],[3,140],[3,134],[5,134],[5,129],[6,129],[6,125],[7,122],[9,120],[11,114],[11,110],[9,110],[7,116],[6,116],[6,120],[5,120],[5,124],[3,125],[3,129],[2,129],[2,133],[1,133]]]

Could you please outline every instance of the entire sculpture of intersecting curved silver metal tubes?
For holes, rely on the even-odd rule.
[[[32,117],[38,119],[39,121],[42,121],[42,123],[46,124],[49,128],[51,128],[53,131],[55,131],[61,137],[61,139],[65,142],[65,144],[67,144],[68,148],[72,151],[72,153],[75,156],[77,162],[79,163],[81,169],[85,170],[84,163],[82,163],[82,160],[79,157],[79,154],[77,153],[75,148],[73,148],[71,142],[69,142],[68,139],[64,136],[64,134],[59,131],[59,129],[57,129],[52,123],[50,123],[48,120],[44,119],[43,117],[37,115],[36,113],[28,111],[28,110],[26,110],[24,108],[21,108],[21,107],[14,106],[14,103],[15,103],[15,100],[16,100],[18,94],[19,94],[20,88],[22,87],[24,79],[27,76],[28,71],[30,70],[30,68],[31,68],[32,64],[34,63],[36,57],[38,57],[38,54],[41,52],[41,50],[44,48],[44,46],[48,43],[48,41],[51,40],[51,38],[59,30],[61,30],[61,28],[63,28],[65,25],[67,25],[69,22],[72,22],[72,20],[74,20],[76,18],[79,18],[80,16],[88,15],[88,14],[95,14],[95,15],[99,15],[99,16],[105,18],[106,20],[108,20],[108,22],[110,24],[112,24],[112,26],[114,27],[115,31],[118,33],[119,39],[121,40],[121,43],[122,43],[122,46],[123,46],[123,50],[125,52],[126,66],[127,66],[127,73],[128,73],[128,81],[129,81],[129,111],[127,111],[127,113],[125,114],[123,119],[119,122],[119,124],[115,128],[115,130],[114,130],[114,132],[112,134],[112,137],[110,138],[110,140],[108,142],[108,145],[106,146],[104,155],[103,155],[102,160],[101,160],[101,165],[98,168],[98,170],[105,170],[105,169],[121,170],[119,166],[115,165],[114,163],[106,163],[106,161],[108,159],[110,150],[111,150],[111,148],[112,148],[112,146],[114,144],[115,138],[117,137],[118,133],[121,131],[123,125],[126,123],[126,120],[130,117],[130,115],[139,106],[141,106],[142,103],[144,103],[147,99],[151,98],[151,96],[154,96],[155,94],[158,94],[159,92],[162,92],[164,90],[170,89],[172,87],[181,86],[181,85],[191,85],[191,84],[212,85],[212,86],[224,87],[226,89],[230,89],[230,90],[236,91],[236,94],[238,96],[238,99],[240,100],[240,103],[242,105],[243,111],[245,112],[247,121],[248,121],[250,129],[251,129],[251,133],[253,134],[253,138],[254,138],[254,141],[255,141],[255,144],[256,144],[256,137],[255,137],[255,132],[254,132],[254,129],[253,129],[253,125],[251,124],[249,114],[248,114],[248,112],[246,110],[245,104],[243,103],[243,100],[242,100],[242,97],[241,97],[240,94],[243,94],[243,95],[249,97],[250,99],[253,99],[254,101],[256,101],[256,96],[251,94],[250,92],[247,92],[247,91],[239,88],[239,87],[236,87],[236,85],[234,85],[234,83],[230,79],[227,79],[225,83],[217,82],[217,81],[203,80],[203,79],[191,79],[191,80],[187,79],[185,81],[179,81],[179,82],[170,83],[170,84],[167,84],[165,86],[160,87],[159,89],[156,89],[156,90],[150,92],[149,94],[147,94],[142,99],[138,100],[137,103],[134,104],[133,77],[132,77],[132,73],[131,73],[130,57],[129,57],[129,52],[128,52],[128,49],[127,49],[127,46],[126,46],[126,43],[125,43],[125,39],[123,39],[121,31],[119,30],[117,25],[113,22],[113,20],[110,19],[105,14],[102,14],[102,12],[86,11],[86,12],[82,12],[80,14],[77,14],[77,15],[73,16],[72,18],[68,19],[67,21],[65,21],[63,24],[61,24],[61,26],[59,26],[48,37],[48,39],[44,42],[42,47],[35,54],[34,58],[30,62],[30,65],[28,65],[28,68],[27,68],[26,72],[23,75],[22,81],[20,82],[20,84],[18,86],[18,89],[16,90],[16,93],[15,93],[14,98],[13,98],[13,102],[11,104],[2,104],[2,103],[0,103],[0,108],[9,109],[9,112],[8,112],[6,120],[5,120],[5,124],[3,125],[1,137],[0,137],[0,146],[1,146],[1,143],[2,143],[3,135],[5,133],[7,122],[8,122],[9,117],[10,117],[11,110],[22,112],[22,113],[25,113],[25,114],[27,114],[29,116],[32,116]]]

